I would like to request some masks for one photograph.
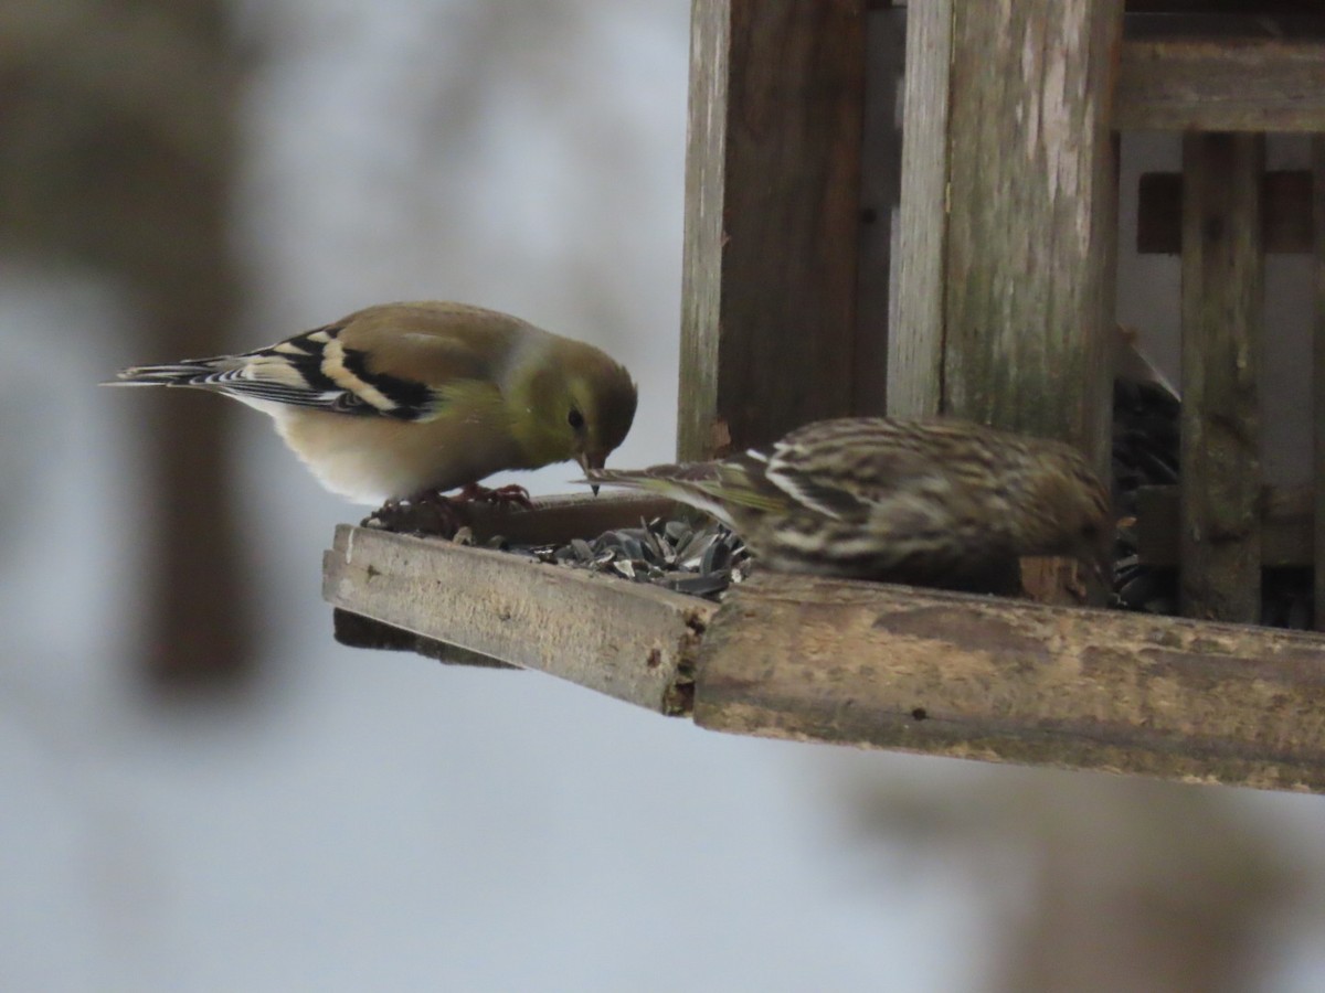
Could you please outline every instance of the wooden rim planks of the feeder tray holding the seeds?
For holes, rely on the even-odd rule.
[[[477,535],[564,542],[673,515],[574,496]],[[1325,792],[1325,638],[757,571],[721,604],[341,526],[337,637],[537,669],[735,733]]]

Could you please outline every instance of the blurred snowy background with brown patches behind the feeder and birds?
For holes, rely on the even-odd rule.
[[[670,457],[688,29],[685,0],[0,0],[0,989],[1325,985],[1317,798],[725,737],[343,649],[321,553],[359,510],[256,414],[93,385],[208,324],[456,298],[621,357],[615,461]],[[176,97],[217,115],[134,130]],[[89,234],[158,140],[207,162],[213,256],[187,195],[193,226]],[[146,674],[166,552],[249,580],[212,612],[250,630],[231,685]]]

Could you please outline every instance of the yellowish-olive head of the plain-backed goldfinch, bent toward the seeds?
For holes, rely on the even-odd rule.
[[[592,346],[562,339],[555,360],[530,375],[514,434],[530,467],[575,459],[602,469],[635,421],[631,375]]]

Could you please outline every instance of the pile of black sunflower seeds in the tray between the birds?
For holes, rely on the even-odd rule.
[[[472,543],[466,531],[461,528],[456,540]],[[484,547],[709,600],[719,600],[729,585],[741,583],[754,563],[745,543],[722,524],[662,518],[606,531],[591,542],[575,538],[568,544],[522,545],[498,536]]]

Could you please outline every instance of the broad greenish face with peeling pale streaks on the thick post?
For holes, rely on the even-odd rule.
[[[1121,0],[957,4],[946,412],[1108,467]]]

